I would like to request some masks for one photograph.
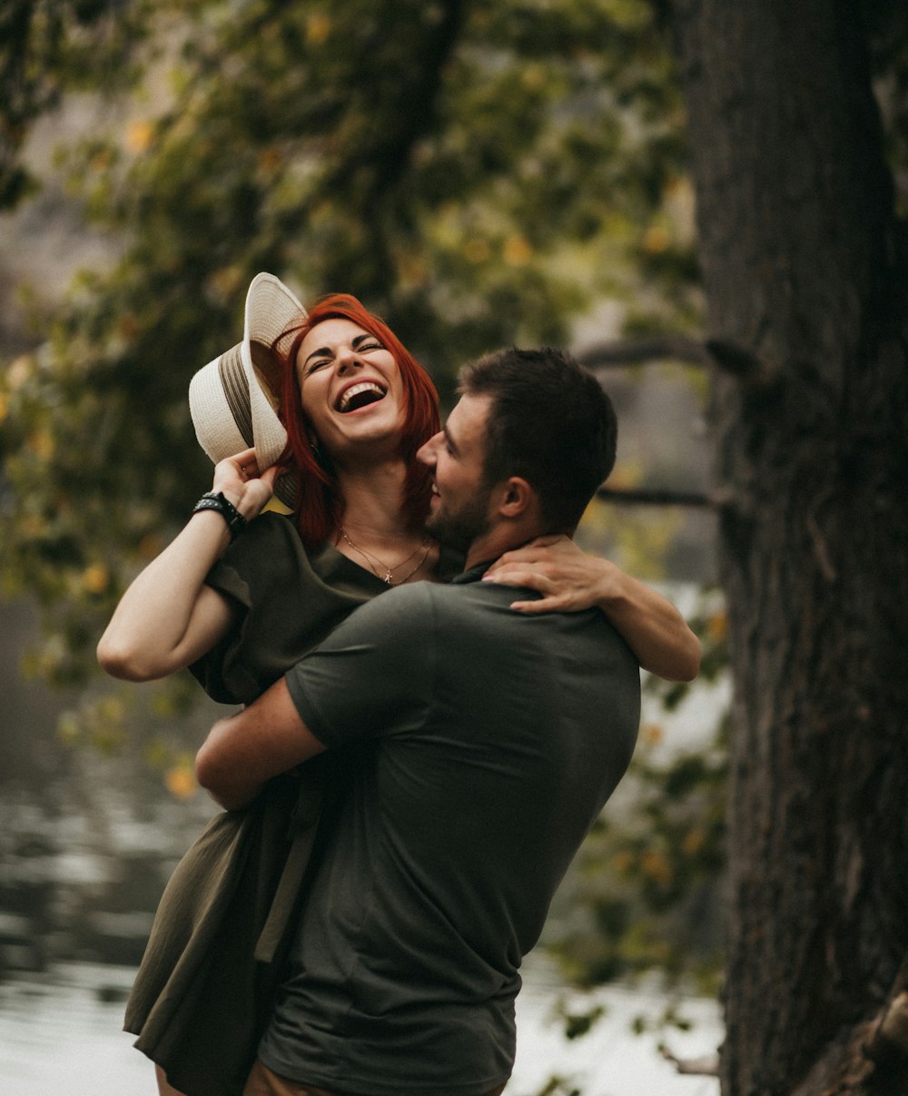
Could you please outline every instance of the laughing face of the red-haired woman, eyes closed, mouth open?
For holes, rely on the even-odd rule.
[[[297,376],[302,410],[320,443],[345,455],[396,449],[404,424],[400,369],[390,351],[352,320],[317,324],[300,343]]]

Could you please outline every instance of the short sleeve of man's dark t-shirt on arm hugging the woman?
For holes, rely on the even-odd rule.
[[[356,609],[285,680],[329,747],[418,731],[435,681],[430,584],[395,587]]]

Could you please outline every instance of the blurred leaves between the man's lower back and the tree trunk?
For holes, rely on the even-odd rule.
[[[703,644],[693,688],[727,666],[725,615],[704,595],[691,626]],[[667,710],[690,685],[647,678]],[[721,709],[721,706],[720,706]],[[722,966],[727,716],[705,749],[678,751],[644,724],[629,775],[598,820],[560,895],[566,912],[547,944],[574,982],[590,986],[658,970],[668,987],[715,993]],[[667,1013],[666,1024],[677,1026]]]

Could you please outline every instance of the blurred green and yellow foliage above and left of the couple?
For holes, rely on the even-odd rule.
[[[42,344],[0,381],[0,581],[42,600],[54,681],[85,680],[124,584],[207,486],[187,385],[239,341],[257,271],[360,296],[445,395],[468,356],[564,340],[602,294],[636,292],[635,256],[665,273],[690,242],[671,236],[682,115],[645,0],[11,11],[31,82],[8,126],[77,85],[117,107],[56,170],[118,258],[37,318]],[[651,311],[681,317],[671,278]]]

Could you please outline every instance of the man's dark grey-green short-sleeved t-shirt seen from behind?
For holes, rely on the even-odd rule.
[[[263,1044],[277,1073],[472,1096],[510,1072],[517,968],[630,761],[640,674],[597,610],[520,615],[470,578],[377,598],[288,675],[353,752]]]

